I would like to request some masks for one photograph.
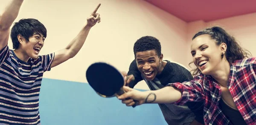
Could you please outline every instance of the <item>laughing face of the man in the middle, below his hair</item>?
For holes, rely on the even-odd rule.
[[[159,57],[154,49],[136,53],[137,68],[148,81],[153,80],[161,72],[162,59],[163,55]]]

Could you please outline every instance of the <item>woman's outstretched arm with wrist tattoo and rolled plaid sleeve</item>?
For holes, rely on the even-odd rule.
[[[204,100],[204,89],[200,78],[183,83],[168,84],[159,90],[141,92],[126,86],[123,89],[126,93],[117,97],[127,106],[134,105],[133,100],[139,101],[139,105],[143,103],[177,103],[184,105],[186,102]]]

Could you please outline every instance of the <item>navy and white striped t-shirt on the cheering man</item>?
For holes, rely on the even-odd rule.
[[[8,46],[0,50],[0,125],[40,125],[39,92],[54,53],[21,61]]]

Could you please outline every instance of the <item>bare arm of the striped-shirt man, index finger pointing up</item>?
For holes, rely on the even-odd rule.
[[[67,45],[66,48],[61,49],[55,52],[55,57],[52,61],[51,68],[55,67],[64,61],[67,61],[70,58],[73,58],[83,46],[87,35],[91,29],[97,22],[100,22],[99,14],[97,14],[97,10],[99,9],[99,4],[90,17],[87,17],[87,23],[83,26],[79,34]]]

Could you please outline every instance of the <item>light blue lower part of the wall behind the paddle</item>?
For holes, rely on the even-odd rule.
[[[167,125],[157,104],[126,107],[73,81],[44,78],[39,107],[42,125]]]

